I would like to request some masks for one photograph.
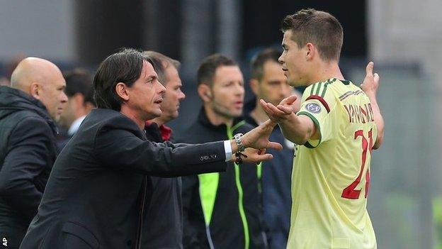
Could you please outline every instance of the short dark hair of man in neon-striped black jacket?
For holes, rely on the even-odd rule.
[[[200,85],[205,83],[208,84],[209,87],[212,87],[213,77],[215,76],[215,72],[218,67],[237,65],[237,62],[225,55],[214,54],[205,57],[203,62],[201,62],[200,67],[198,67],[198,72],[196,75],[197,84]]]

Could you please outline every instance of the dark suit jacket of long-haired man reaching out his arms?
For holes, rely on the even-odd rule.
[[[139,248],[143,174],[225,169],[222,142],[152,143],[120,112],[95,109],[57,158],[21,248]]]

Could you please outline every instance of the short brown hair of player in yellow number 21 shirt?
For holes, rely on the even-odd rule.
[[[292,31],[291,37],[302,48],[307,43],[317,46],[322,60],[339,60],[344,31],[341,23],[330,13],[315,9],[302,9],[285,16],[281,30]]]

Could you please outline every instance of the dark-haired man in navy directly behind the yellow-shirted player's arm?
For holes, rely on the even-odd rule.
[[[259,100],[278,105],[291,94],[299,94],[287,82],[283,67],[278,62],[280,52],[269,48],[259,52],[251,61],[250,87],[256,96],[254,109],[245,115],[247,123],[259,126],[268,119]],[[299,109],[300,101],[296,103]],[[268,226],[270,248],[285,248],[290,228],[290,194],[294,145],[284,138],[279,126],[275,126],[271,139],[283,145],[283,150],[268,150],[273,160],[263,162],[261,174],[261,194],[264,221]]]

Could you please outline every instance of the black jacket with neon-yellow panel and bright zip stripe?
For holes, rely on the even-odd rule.
[[[240,118],[213,126],[202,109],[179,141],[227,140],[251,128]],[[266,248],[256,165],[229,162],[226,172],[182,179],[184,248]]]

